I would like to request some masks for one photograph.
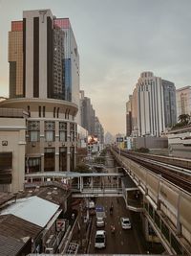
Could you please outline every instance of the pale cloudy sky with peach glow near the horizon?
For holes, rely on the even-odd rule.
[[[23,11],[69,17],[80,89],[105,132],[125,133],[125,108],[143,71],[191,85],[190,0],[0,0],[0,96],[9,96],[8,32]]]

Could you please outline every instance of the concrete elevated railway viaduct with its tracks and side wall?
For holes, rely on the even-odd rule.
[[[142,195],[142,217],[151,224],[166,251],[170,255],[191,255],[190,170],[169,163],[151,164],[145,156],[138,158],[138,153],[117,148],[111,151],[118,165],[137,184]]]

